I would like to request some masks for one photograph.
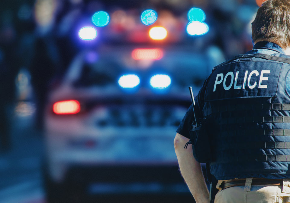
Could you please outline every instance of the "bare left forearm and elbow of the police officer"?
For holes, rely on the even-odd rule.
[[[192,147],[184,148],[188,138],[176,134],[174,148],[181,174],[197,203],[209,203],[209,193],[201,171],[201,165],[193,157]]]

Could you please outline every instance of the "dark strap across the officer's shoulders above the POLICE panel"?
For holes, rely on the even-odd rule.
[[[266,60],[269,60],[269,61],[279,61],[279,62],[282,62],[282,63],[290,64],[290,58],[284,58],[284,57],[279,57],[279,56],[272,56],[272,55],[268,55],[268,54],[246,54],[246,55],[237,55],[234,58],[232,58],[232,59],[230,59],[228,61],[225,61],[224,63],[221,63],[218,66],[214,67],[212,69],[212,71],[214,71],[218,67],[220,67],[222,65],[225,65],[225,64],[228,64],[231,61],[234,61],[234,60],[236,60],[238,58],[253,58],[253,57],[263,58],[263,59],[266,59]]]

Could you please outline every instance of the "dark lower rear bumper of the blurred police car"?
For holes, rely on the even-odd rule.
[[[71,166],[65,183],[87,195],[190,193],[177,164]]]

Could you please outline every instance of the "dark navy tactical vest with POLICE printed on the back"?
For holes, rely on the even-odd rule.
[[[238,55],[208,78],[211,174],[217,180],[290,178],[290,59]]]

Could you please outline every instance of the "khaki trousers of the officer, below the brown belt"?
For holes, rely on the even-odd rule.
[[[235,186],[221,190],[218,181],[214,203],[286,203],[290,202],[290,179],[284,179],[282,186],[252,186],[247,178],[245,186]]]

